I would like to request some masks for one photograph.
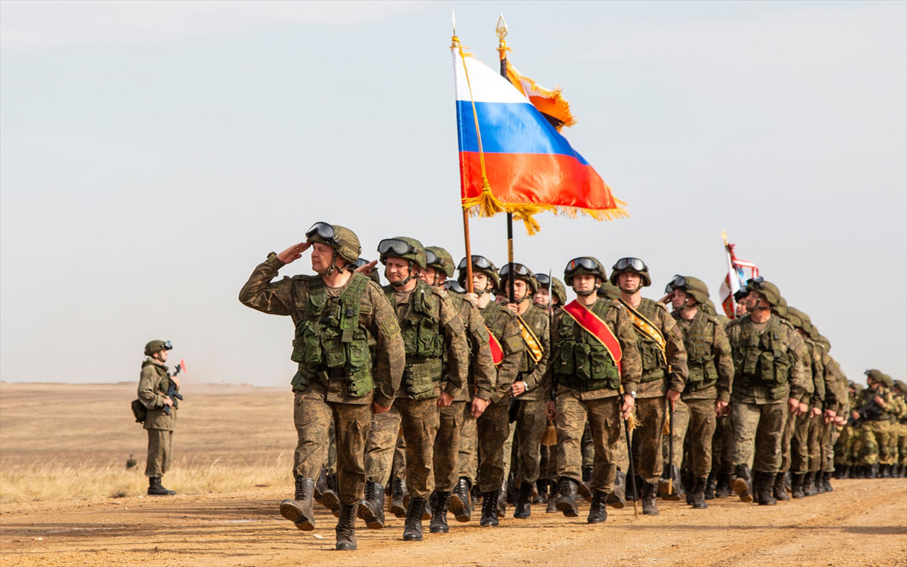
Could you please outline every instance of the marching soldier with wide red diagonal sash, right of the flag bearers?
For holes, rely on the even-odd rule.
[[[557,509],[575,518],[577,487],[581,480],[580,439],[590,422],[595,456],[590,479],[593,490],[588,523],[608,518],[606,502],[613,490],[617,466],[614,455],[620,419],[628,419],[635,405],[642,364],[636,333],[627,308],[617,300],[600,298],[596,290],[605,281],[598,259],[571,259],[564,281],[577,299],[561,308],[551,321],[552,399],[548,416],[557,418]]]

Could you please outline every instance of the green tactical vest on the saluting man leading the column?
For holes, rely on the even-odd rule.
[[[371,279],[353,274],[339,296],[328,298],[320,277],[297,278],[307,279],[308,298],[296,300],[302,317],[297,319],[290,357],[298,363],[290,382],[293,390],[304,390],[312,380],[344,380],[350,396],[366,396],[375,387],[370,349],[375,339],[359,324],[359,315]]]

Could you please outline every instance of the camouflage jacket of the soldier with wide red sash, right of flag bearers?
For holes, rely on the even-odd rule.
[[[639,378],[642,376],[642,358],[639,356],[636,330],[633,328],[632,321],[630,321],[627,308],[620,303],[619,299],[609,300],[599,297],[590,309],[596,308],[600,301],[608,303],[608,307],[605,308],[604,316],[601,319],[608,325],[620,344],[620,386],[624,392],[638,392]],[[569,391],[572,396],[580,400],[618,396],[618,390],[610,388],[580,392],[580,390],[570,386],[559,384],[557,375],[553,372],[554,365],[551,361],[561,357],[561,322],[565,317],[570,317],[570,315],[563,308],[560,308],[554,312],[554,317],[551,318],[551,357],[549,357],[550,363],[545,371],[546,379],[551,383],[551,397],[556,398],[561,391]]]

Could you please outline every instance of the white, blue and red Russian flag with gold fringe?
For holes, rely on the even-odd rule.
[[[463,55],[458,44],[452,53],[464,207],[483,192],[481,135],[485,174],[504,210],[523,216],[539,210],[583,212],[599,220],[626,216],[598,172],[523,93]]]

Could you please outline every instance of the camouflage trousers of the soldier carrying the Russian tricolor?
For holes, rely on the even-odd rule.
[[[490,404],[476,421],[479,445],[479,490],[490,493],[501,488],[510,467],[512,427],[508,420],[510,398]]]

